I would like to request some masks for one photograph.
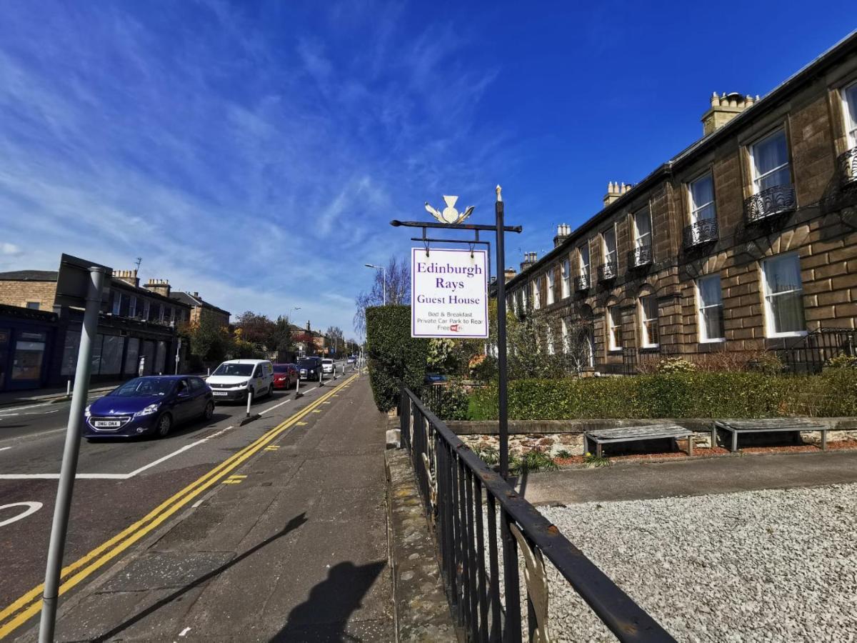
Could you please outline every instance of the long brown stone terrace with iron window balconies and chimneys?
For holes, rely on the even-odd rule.
[[[857,328],[857,35],[759,99],[714,94],[703,137],[554,249],[526,253],[507,304],[585,329],[590,368],[629,358],[797,350]],[[843,339],[844,338],[844,339]]]

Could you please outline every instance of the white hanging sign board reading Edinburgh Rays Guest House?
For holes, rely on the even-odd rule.
[[[411,248],[411,337],[488,337],[485,250]]]

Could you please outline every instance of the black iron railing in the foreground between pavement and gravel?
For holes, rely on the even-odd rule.
[[[446,596],[468,640],[522,640],[524,604],[530,640],[548,640],[545,557],[620,641],[674,640],[410,389],[400,400],[402,444],[434,530]],[[519,562],[533,570],[524,597]]]

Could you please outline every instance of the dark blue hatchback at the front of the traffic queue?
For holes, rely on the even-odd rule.
[[[164,437],[176,424],[213,414],[212,389],[201,377],[137,377],[87,406],[83,436]]]

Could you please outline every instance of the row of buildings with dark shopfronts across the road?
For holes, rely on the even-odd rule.
[[[0,344],[6,359],[3,367],[0,355],[0,367],[5,368],[0,391],[63,386],[75,375],[83,310],[56,304],[57,276],[56,271],[0,273],[0,303],[6,304],[0,339],[4,329],[8,335],[6,348]],[[181,371],[185,349],[177,327],[189,317],[190,306],[170,297],[165,279],[141,287],[136,271],[114,271],[101,303],[92,381],[124,380],[141,369],[144,375]],[[41,365],[36,369],[39,352]],[[15,355],[26,358],[26,369]]]

